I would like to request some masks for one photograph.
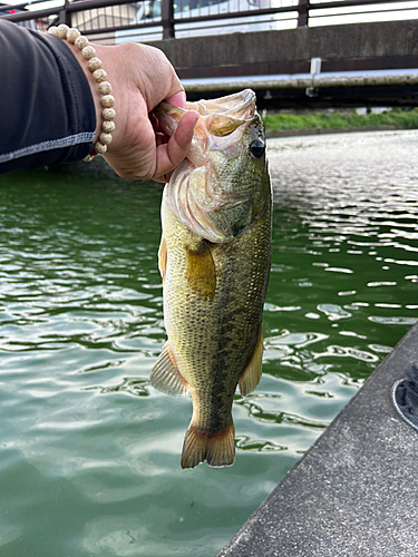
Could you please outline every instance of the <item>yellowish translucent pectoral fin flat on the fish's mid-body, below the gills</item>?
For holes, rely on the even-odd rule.
[[[212,302],[216,290],[216,268],[208,243],[202,240],[194,246],[186,246],[186,252],[188,285],[200,297]]]

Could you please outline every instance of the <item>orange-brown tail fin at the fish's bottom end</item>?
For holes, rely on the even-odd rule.
[[[192,421],[184,438],[182,468],[194,468],[207,460],[208,466],[222,468],[235,461],[235,428],[231,424],[223,431],[208,433]]]

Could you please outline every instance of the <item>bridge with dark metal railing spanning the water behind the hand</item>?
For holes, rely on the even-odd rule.
[[[0,17],[40,30],[66,22],[103,43],[148,42],[191,99],[251,87],[260,107],[418,106],[414,1],[35,0],[0,6]]]

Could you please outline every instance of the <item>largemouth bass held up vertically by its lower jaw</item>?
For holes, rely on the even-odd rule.
[[[168,340],[150,377],[168,394],[191,393],[182,468],[235,459],[232,403],[261,378],[263,303],[271,265],[271,186],[264,129],[246,89],[187,102],[200,113],[188,158],[162,202],[159,271]],[[184,109],[162,104],[173,135]]]

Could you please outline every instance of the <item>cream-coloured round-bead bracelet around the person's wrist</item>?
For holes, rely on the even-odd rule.
[[[84,37],[80,31],[74,27],[61,23],[58,27],[50,27],[48,32],[59,37],[60,39],[66,39],[68,42],[75,45],[75,47],[81,51],[82,58],[88,63],[88,69],[93,72],[93,77],[99,86],[99,94],[101,95],[100,104],[103,106],[101,116],[101,134],[99,135],[98,141],[95,144],[95,148],[90,155],[87,155],[84,160],[89,163],[94,159],[95,155],[103,155],[107,152],[107,146],[111,143],[111,133],[115,131],[115,98],[111,92],[111,86],[107,81],[107,74],[101,69],[101,60],[96,57],[95,48],[89,45],[88,39]]]

